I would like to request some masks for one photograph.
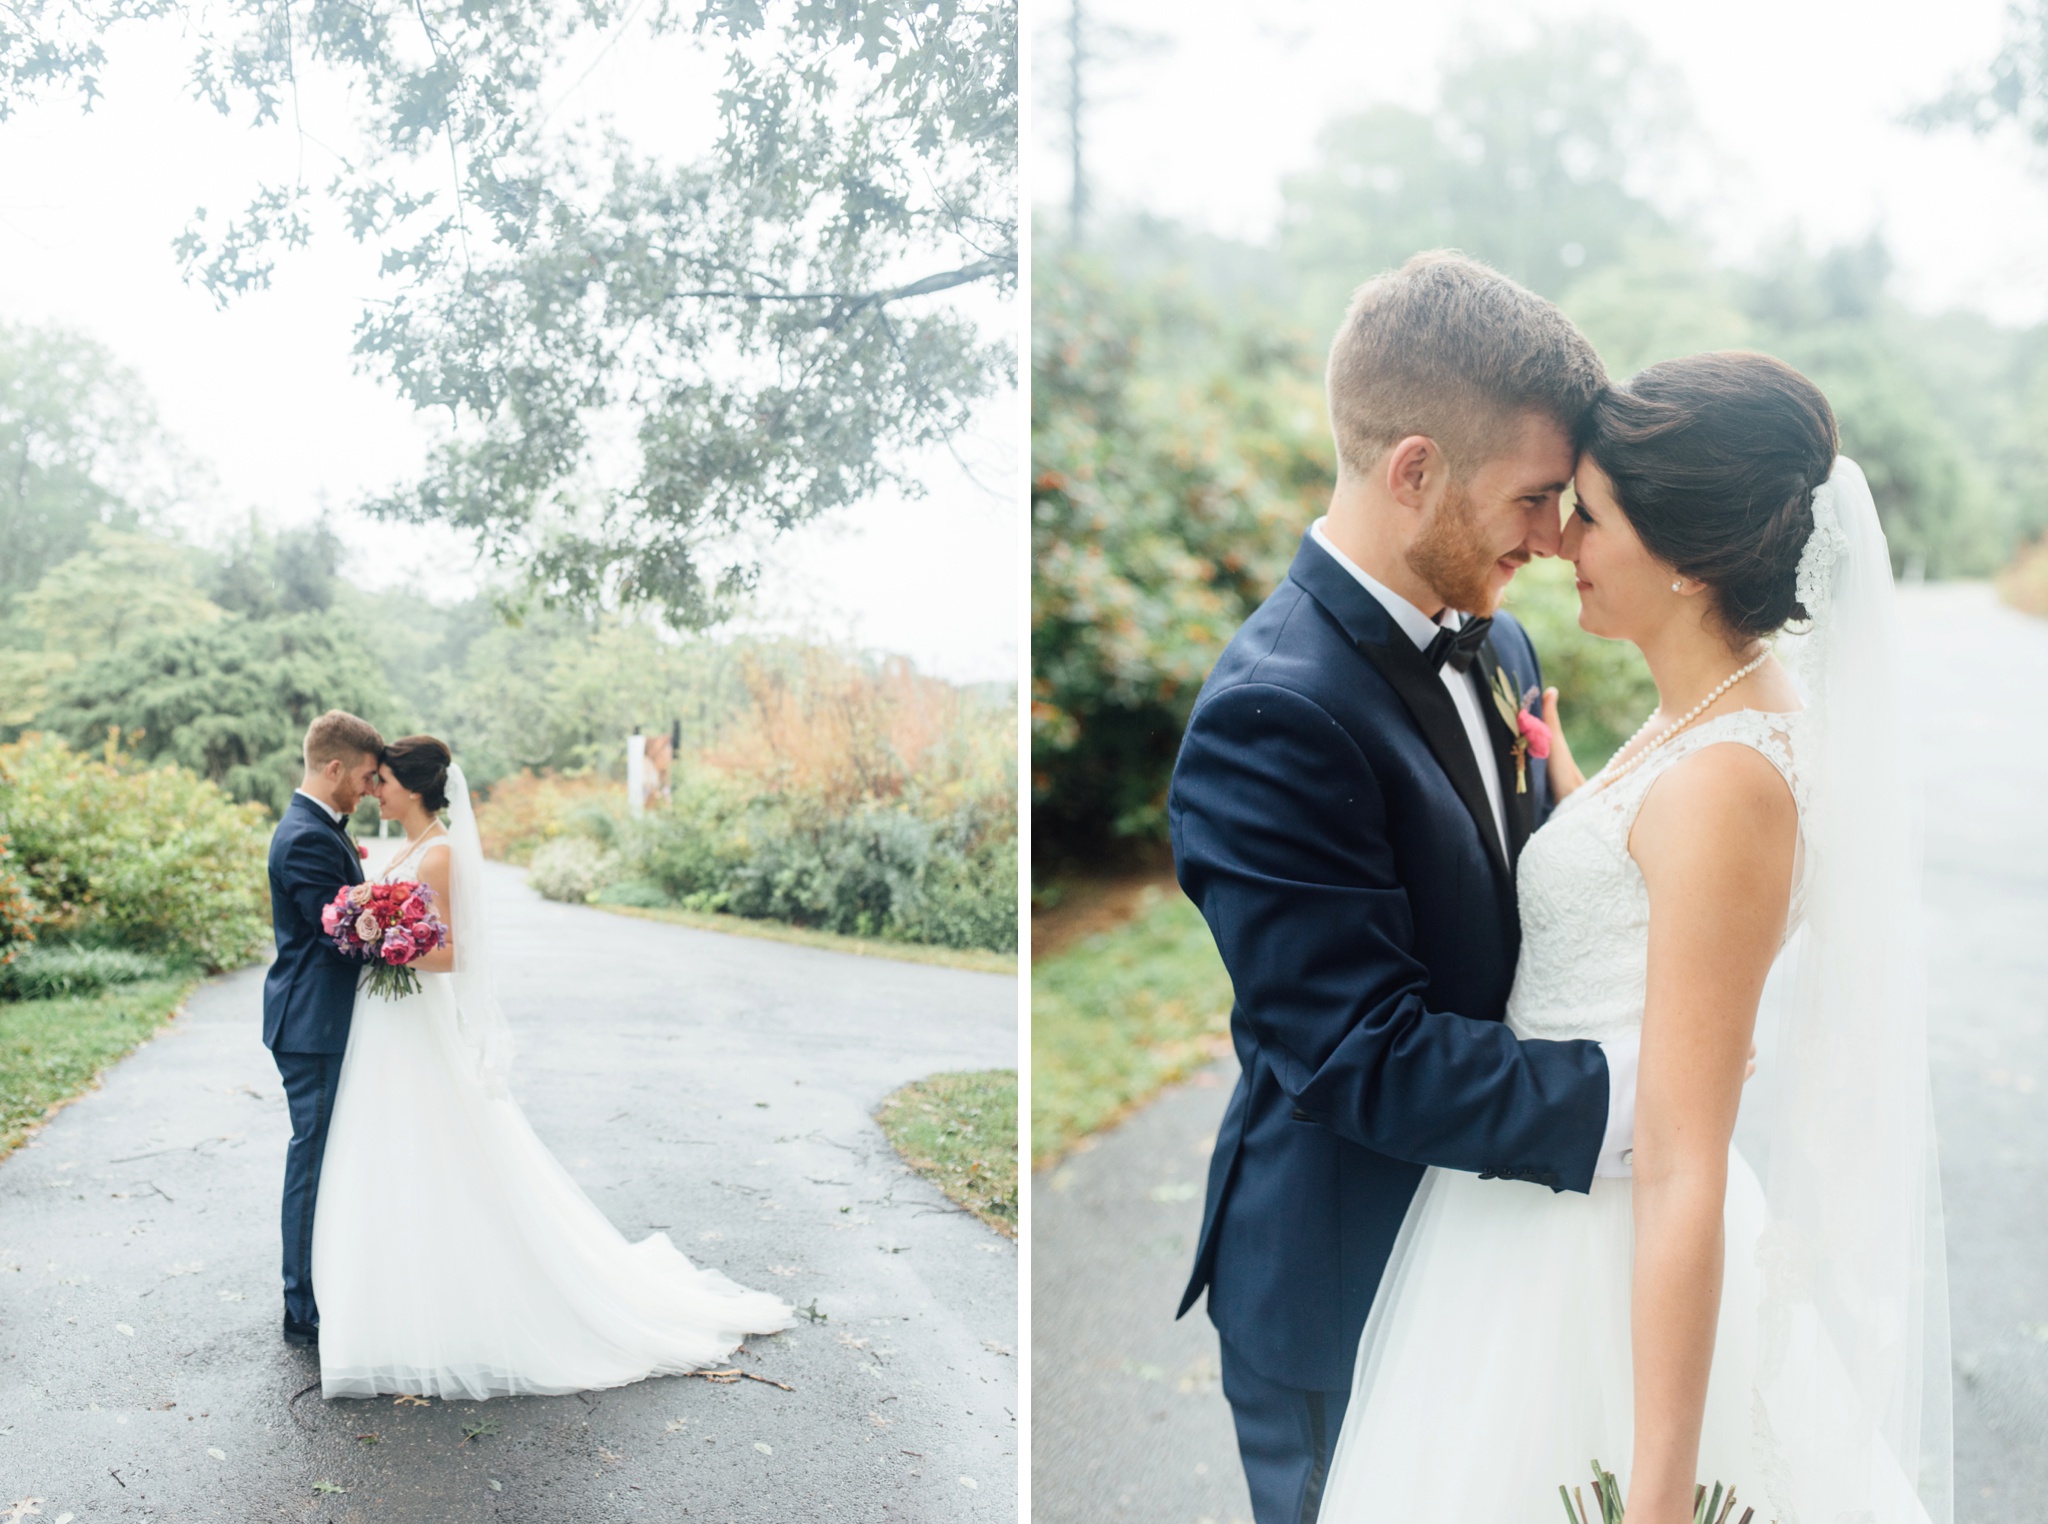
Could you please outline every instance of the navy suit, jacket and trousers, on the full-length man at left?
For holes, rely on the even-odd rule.
[[[356,1008],[358,963],[319,930],[319,912],[344,883],[362,883],[362,858],[346,823],[293,795],[270,836],[270,928],[276,963],[262,981],[262,1041],[285,1080],[291,1145],[285,1149],[285,1315],[319,1323],[313,1299],[313,1204],[328,1116]]]

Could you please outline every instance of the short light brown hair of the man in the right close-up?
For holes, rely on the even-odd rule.
[[[1608,373],[1585,334],[1534,291],[1432,250],[1358,287],[1325,381],[1343,469],[1366,473],[1423,434],[1466,475],[1532,410],[1577,434]]]

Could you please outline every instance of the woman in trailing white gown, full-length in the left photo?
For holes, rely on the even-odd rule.
[[[414,965],[420,993],[356,993],[313,1217],[322,1395],[621,1387],[788,1327],[788,1307],[692,1266],[666,1233],[627,1243],[535,1137],[506,1094],[463,770],[412,735],[379,776],[377,803],[406,828],[381,877],[428,885],[451,936]]]

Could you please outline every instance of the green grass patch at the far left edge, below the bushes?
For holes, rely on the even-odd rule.
[[[170,1020],[197,983],[150,979],[98,996],[0,1002],[0,1157]]]

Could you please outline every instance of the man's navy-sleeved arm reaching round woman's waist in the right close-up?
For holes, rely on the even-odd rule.
[[[1321,707],[1245,684],[1196,711],[1174,856],[1280,1086],[1378,1153],[1587,1190],[1608,1065],[1430,1010],[1413,912],[1364,754]]]

